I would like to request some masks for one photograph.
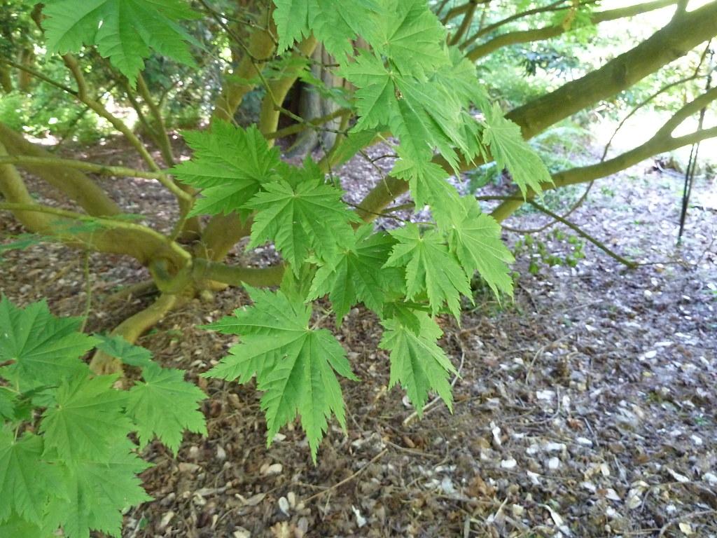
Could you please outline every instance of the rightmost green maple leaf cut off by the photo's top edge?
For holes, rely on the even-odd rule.
[[[384,0],[376,25],[365,37],[399,72],[422,75],[447,61],[445,28],[425,0]]]

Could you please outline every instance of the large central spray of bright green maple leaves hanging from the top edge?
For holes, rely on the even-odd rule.
[[[336,159],[353,155],[378,133],[391,133],[400,157],[392,173],[408,181],[417,207],[427,205],[435,220],[388,234],[371,225],[352,230],[356,213],[326,169],[312,161],[301,168],[280,164],[253,128],[214,123],[211,133],[187,137],[195,156],[176,174],[204,189],[191,214],[252,214],[247,247],[272,242],[290,275],[277,293],[252,291],[254,306],[210,326],[240,336],[242,344],[208,375],[242,383],[256,376],[267,438],[298,413],[315,458],[326,418],[333,412],[343,426],[334,372],[352,376],[331,334],[308,328],[311,302],[328,296],[337,324],[364,303],[386,329],[381,345],[391,351],[391,386],[402,384],[417,407],[429,390],[450,402],[453,369],[436,344],[441,331],[432,316],[447,310],[460,318],[460,297],[470,299],[476,271],[495,293],[512,293],[513,258],[498,224],[480,213],[475,199],[460,197],[435,154],[455,171],[461,161],[491,154],[523,191],[540,190],[550,176],[520,128],[490,105],[476,84],[475,66],[446,47],[445,29],[424,0],[361,0],[345,9],[329,0],[276,0],[275,6],[279,52],[313,33],[355,87],[353,95],[331,94],[358,115]],[[369,47],[355,50],[350,40],[357,36]],[[285,56],[265,67],[264,76],[307,69],[301,59]],[[321,91],[318,80],[299,76]],[[483,112],[480,120],[475,108]],[[257,159],[270,164],[247,178],[242,167]]]

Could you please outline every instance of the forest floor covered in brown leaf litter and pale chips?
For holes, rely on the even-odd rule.
[[[92,159],[122,156],[108,147]],[[366,189],[372,172],[353,163],[338,174],[360,198],[358,182]],[[168,226],[171,200],[151,182],[99,181]],[[573,232],[558,225],[517,256],[514,301],[478,290],[460,326],[442,319],[442,345],[460,371],[452,414],[438,402],[414,420],[402,392],[386,388],[376,318],[354,308],[338,336],[361,382],[343,383],[348,433],[331,426],[316,466],[299,429],[266,448],[255,387],[198,378],[232,341],[196,325],[231,313],[245,294],[229,289],[166,316],[140,343],[206,390],[209,436],[187,436],[177,458],[158,443],[146,448],[154,467],[143,478],[156,501],[128,511],[123,536],[717,537],[717,185],[695,185],[676,248],[681,184],[642,164],[599,181],[570,216],[649,265],[629,270],[591,244],[572,258]],[[543,203],[560,213],[580,193]],[[525,211],[506,224],[545,222]],[[0,216],[0,239],[21,231]],[[515,245],[522,236],[505,237]],[[576,265],[551,266],[549,255]],[[17,303],[45,296],[58,314],[82,313],[89,275],[95,331],[151,301],[109,300],[148,278],[123,258],[91,255],[85,271],[62,245],[3,256],[0,291]]]

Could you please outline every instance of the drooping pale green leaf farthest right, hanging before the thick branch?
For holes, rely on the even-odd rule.
[[[508,169],[523,195],[531,188],[541,192],[542,183],[551,183],[550,172],[535,150],[523,139],[521,128],[503,117],[498,104],[485,112],[483,143],[500,169]]]

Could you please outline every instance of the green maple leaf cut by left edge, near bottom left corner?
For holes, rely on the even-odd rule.
[[[42,461],[42,438],[25,433],[15,439],[0,429],[0,522],[14,511],[29,522],[42,522],[51,496],[62,494],[52,466]]]

